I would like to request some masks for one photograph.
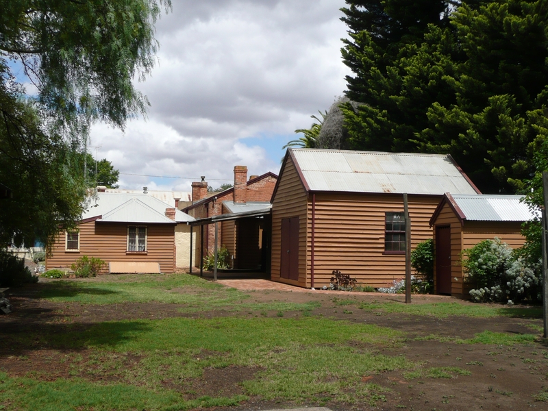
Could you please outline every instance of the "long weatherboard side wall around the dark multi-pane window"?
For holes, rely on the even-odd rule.
[[[409,195],[411,247],[432,238],[429,219],[441,196]],[[316,194],[314,286],[329,284],[333,270],[351,275],[358,284],[391,286],[405,277],[405,253],[384,253],[385,212],[403,212],[403,196],[392,194]],[[312,202],[308,203],[312,219]],[[312,243],[308,224],[308,247]],[[312,268],[308,253],[307,271]]]

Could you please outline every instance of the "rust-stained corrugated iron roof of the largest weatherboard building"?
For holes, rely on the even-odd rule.
[[[449,155],[291,149],[313,191],[476,194]]]

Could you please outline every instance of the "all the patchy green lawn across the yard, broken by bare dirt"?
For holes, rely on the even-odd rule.
[[[45,321],[12,333],[10,344],[19,348],[18,361],[44,350],[53,353],[51,361],[62,363],[68,377],[52,379],[49,371],[40,369],[10,376],[0,357],[0,410],[190,410],[236,406],[250,397],[375,406],[386,401],[392,389],[369,382],[372,375],[397,372],[410,381],[472,375],[462,366],[432,367],[421,358],[395,353],[405,348],[406,331],[314,314],[322,306],[319,301],[253,301],[249,293],[190,275],[60,280],[38,284],[36,298],[62,304],[67,312],[75,306],[94,310],[123,303],[169,303],[180,316],[66,325]],[[439,318],[538,316],[536,309],[459,303],[405,305],[337,298],[331,303],[349,313],[347,308],[355,306],[358,313]],[[441,340],[423,336],[424,341],[436,338]],[[443,341],[512,346],[536,338],[483,332]],[[215,370],[245,374],[239,391],[200,396],[195,380]],[[545,398],[545,392],[537,397]]]

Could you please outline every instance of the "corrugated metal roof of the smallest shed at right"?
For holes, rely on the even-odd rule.
[[[451,195],[466,221],[530,221],[537,215],[520,195]]]

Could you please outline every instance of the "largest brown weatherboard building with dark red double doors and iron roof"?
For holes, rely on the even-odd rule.
[[[432,238],[448,191],[479,193],[450,155],[288,149],[271,201],[271,279],[319,288],[340,270],[390,286],[405,276],[403,193],[414,248]]]

